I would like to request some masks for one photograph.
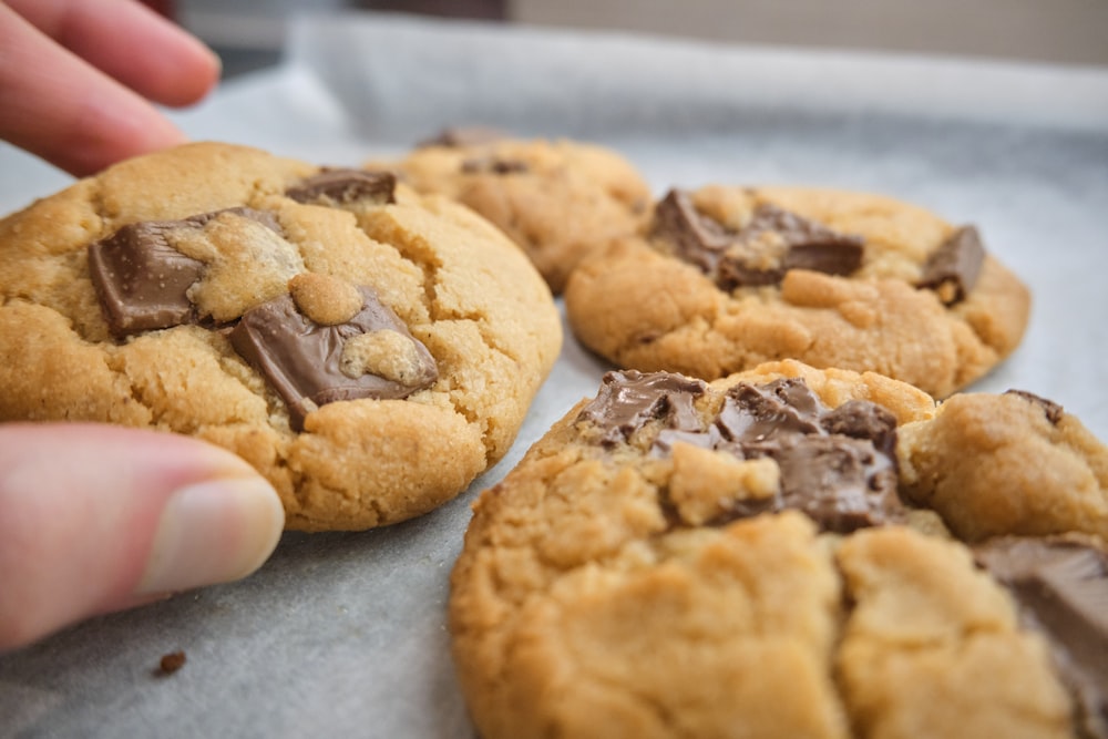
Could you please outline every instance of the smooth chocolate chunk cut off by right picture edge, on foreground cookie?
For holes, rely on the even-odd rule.
[[[1010,589],[1023,622],[1050,643],[1078,736],[1108,739],[1108,552],[1055,536],[997,538],[975,554]]]

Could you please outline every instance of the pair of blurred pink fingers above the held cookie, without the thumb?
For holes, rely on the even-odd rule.
[[[0,137],[70,174],[182,143],[148,101],[194,103],[218,76],[212,51],[135,0],[0,2]]]

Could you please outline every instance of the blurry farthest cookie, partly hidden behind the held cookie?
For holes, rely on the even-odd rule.
[[[503,229],[555,294],[586,254],[637,233],[652,199],[623,156],[567,140],[448,131],[392,166],[416,189],[454,198]]]

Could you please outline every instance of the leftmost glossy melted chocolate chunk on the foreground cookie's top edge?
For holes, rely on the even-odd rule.
[[[603,429],[602,443],[626,441],[649,421],[665,419],[667,429],[702,431],[694,401],[707,386],[670,372],[607,372],[596,399],[577,417]]]

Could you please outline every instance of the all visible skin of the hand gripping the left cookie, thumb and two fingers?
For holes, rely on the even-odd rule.
[[[0,135],[75,176],[183,142],[153,103],[194,103],[218,76],[215,54],[135,0],[0,2]],[[273,487],[209,444],[0,424],[0,653],[244,577],[284,521]]]

